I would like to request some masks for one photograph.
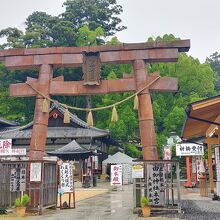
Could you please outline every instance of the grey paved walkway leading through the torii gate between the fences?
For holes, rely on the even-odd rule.
[[[43,216],[27,216],[27,220],[135,220],[133,214],[133,188],[124,186],[123,190],[108,191],[95,197],[84,199],[76,203],[76,209],[47,211]],[[95,189],[97,192],[99,189]],[[103,190],[103,189],[102,189]],[[86,190],[85,190],[86,191]],[[93,191],[88,189],[88,191]],[[3,218],[0,217],[0,220]],[[5,217],[18,220],[19,218]],[[24,219],[24,218],[21,218]]]

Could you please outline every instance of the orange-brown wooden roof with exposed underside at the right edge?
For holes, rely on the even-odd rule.
[[[217,126],[220,126],[220,95],[188,105],[182,138],[209,137]]]

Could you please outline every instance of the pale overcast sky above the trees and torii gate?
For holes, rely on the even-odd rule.
[[[58,15],[64,0],[0,0],[0,29],[24,29],[24,21],[34,11]],[[172,33],[191,40],[189,54],[201,62],[220,53],[220,0],[118,0],[123,6],[122,24],[117,34],[121,42],[145,42],[148,37]]]

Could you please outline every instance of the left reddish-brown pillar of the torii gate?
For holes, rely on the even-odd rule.
[[[49,96],[50,90],[50,80],[52,78],[52,66],[48,64],[43,64],[40,67],[38,83],[42,86],[41,92]],[[47,126],[49,112],[43,113],[44,98],[40,95],[36,96],[35,110],[34,110],[34,124],[31,134],[30,143],[30,160],[41,160],[45,154],[45,145],[47,140]],[[49,105],[49,102],[48,102]]]

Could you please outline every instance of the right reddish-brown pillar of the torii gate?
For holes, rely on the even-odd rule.
[[[144,60],[133,62],[136,89],[142,89],[146,85],[147,70]],[[139,129],[144,160],[157,160],[156,135],[154,129],[154,117],[151,103],[151,96],[148,89],[143,90],[139,95]]]

